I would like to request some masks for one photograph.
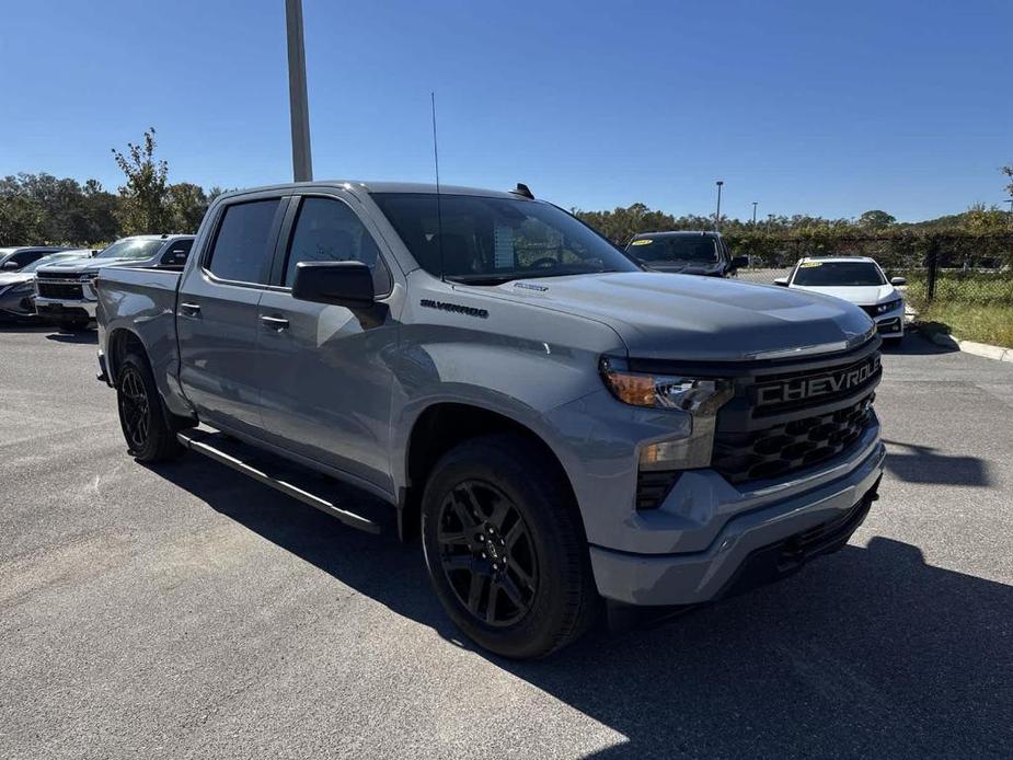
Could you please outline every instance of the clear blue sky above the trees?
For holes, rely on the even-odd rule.
[[[314,174],[903,220],[1000,203],[1013,2],[303,0]],[[284,0],[4,0],[0,174],[290,179]]]

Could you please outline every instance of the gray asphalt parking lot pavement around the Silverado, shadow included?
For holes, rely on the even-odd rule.
[[[135,463],[94,353],[0,329],[0,757],[1009,757],[1011,364],[909,335],[851,545],[518,665],[459,641],[417,545]]]

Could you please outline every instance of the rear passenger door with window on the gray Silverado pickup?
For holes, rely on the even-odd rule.
[[[258,312],[288,197],[243,196],[219,207],[200,261],[180,286],[180,382],[203,421],[260,436]]]

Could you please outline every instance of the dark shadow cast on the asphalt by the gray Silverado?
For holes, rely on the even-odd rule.
[[[197,458],[153,470],[472,648],[429,590],[417,543],[356,532]],[[1013,587],[877,537],[664,625],[600,627],[545,660],[479,654],[625,737],[595,757],[998,757],[1013,741],[1011,609]]]

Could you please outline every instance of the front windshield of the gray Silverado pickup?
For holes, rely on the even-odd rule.
[[[456,281],[496,285],[638,267],[605,238],[549,204],[431,193],[375,193],[419,265]],[[441,261],[442,260],[442,261]]]

